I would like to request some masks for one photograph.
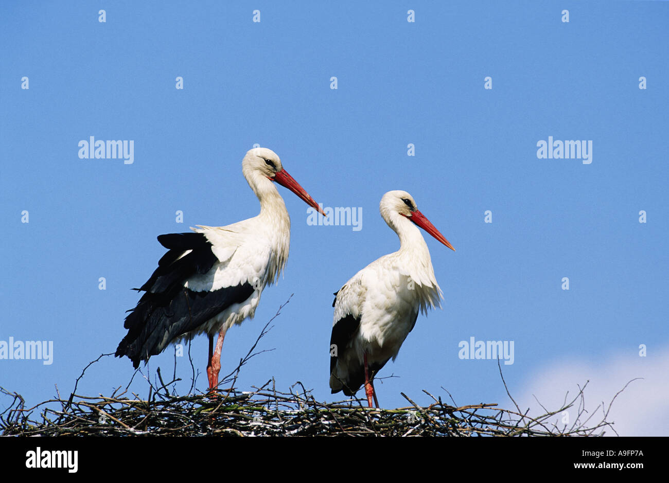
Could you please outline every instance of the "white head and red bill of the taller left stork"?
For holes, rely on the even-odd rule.
[[[279,156],[271,149],[254,148],[247,151],[244,160],[242,160],[242,173],[244,173],[244,177],[248,181],[251,189],[253,189],[256,195],[258,195],[258,198],[260,198],[261,203],[263,197],[261,180],[267,178],[290,189],[290,191],[298,195],[298,197],[303,199],[310,207],[325,214],[318,206],[318,203],[316,203],[306,190],[300,186],[300,183],[295,181],[293,177],[288,174],[281,164]],[[274,191],[273,188],[270,189]],[[274,192],[276,193],[276,191]]]

